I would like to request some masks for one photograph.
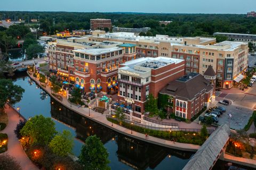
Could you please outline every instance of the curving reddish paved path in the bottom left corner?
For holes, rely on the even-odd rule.
[[[23,170],[37,170],[38,168],[27,157],[13,131],[21,118],[9,106],[6,106],[5,111],[8,115],[9,123],[1,133],[8,134],[8,150],[3,154],[13,156],[20,163]]]

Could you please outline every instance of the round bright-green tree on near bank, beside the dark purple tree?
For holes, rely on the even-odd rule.
[[[50,117],[36,115],[25,124],[20,133],[29,137],[31,144],[47,145],[56,133],[55,123]]]

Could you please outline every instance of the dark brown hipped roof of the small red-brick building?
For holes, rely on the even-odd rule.
[[[211,86],[211,82],[206,80],[203,75],[198,73],[189,73],[184,77],[169,82],[169,84],[167,84],[160,93],[191,100],[202,91],[207,92],[212,89],[213,87]]]

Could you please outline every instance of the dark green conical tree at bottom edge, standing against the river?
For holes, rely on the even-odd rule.
[[[85,140],[81,149],[78,162],[83,165],[83,169],[108,170],[108,152],[103,143],[96,136],[90,136]]]

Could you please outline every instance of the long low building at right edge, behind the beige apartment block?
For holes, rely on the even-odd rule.
[[[246,33],[215,32],[213,36],[225,36],[229,41],[252,43],[256,46],[256,35]]]

